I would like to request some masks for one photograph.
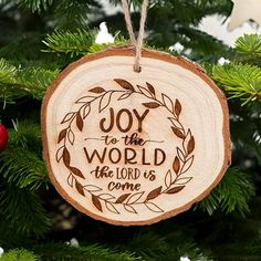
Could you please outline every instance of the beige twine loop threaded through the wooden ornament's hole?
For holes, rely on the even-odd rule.
[[[142,58],[142,48],[143,48],[143,40],[144,40],[144,32],[145,32],[145,22],[146,22],[146,18],[147,18],[148,0],[143,1],[140,22],[139,22],[139,31],[138,31],[137,39],[135,38],[135,33],[133,30],[133,23],[132,23],[128,1],[122,0],[122,4],[123,4],[123,11],[124,11],[124,17],[125,17],[129,39],[130,39],[132,44],[135,46],[134,71],[140,72],[142,67],[140,67],[139,61]]]

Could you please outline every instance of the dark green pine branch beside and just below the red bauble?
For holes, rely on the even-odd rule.
[[[0,173],[19,188],[36,190],[48,187],[49,179],[42,160],[40,126],[29,121],[15,123],[9,129],[9,145],[0,155]]]

